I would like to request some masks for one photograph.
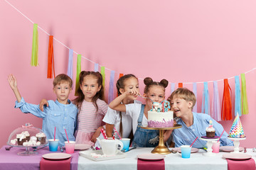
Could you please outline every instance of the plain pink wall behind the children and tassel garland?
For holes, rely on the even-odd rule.
[[[15,1],[8,0],[38,26],[82,56],[110,70],[169,82],[201,82],[234,77],[255,68],[256,1]],[[33,23],[6,1],[0,0],[1,120],[0,146],[15,128],[29,122],[41,128],[42,120],[14,108],[16,98],[8,74],[18,79],[21,95],[29,103],[53,99],[53,79],[46,79],[48,35],[38,29],[39,66],[31,67]],[[68,48],[54,41],[55,72],[66,73]],[[75,79],[76,55],[74,54]],[[82,69],[94,64],[82,58]],[[245,74],[249,114],[242,115],[247,140],[255,147],[255,71]],[[233,89],[235,79],[229,79]],[[140,91],[144,84],[140,80]],[[210,102],[213,84],[209,83]],[[190,84],[184,84],[192,89]],[[220,100],[223,81],[218,81]],[[166,90],[170,95],[171,86]],[[198,84],[198,112],[203,84]],[[106,93],[107,96],[107,93]],[[70,99],[74,98],[74,91]],[[143,100],[142,100],[143,101]],[[220,122],[226,131],[233,120]]]

